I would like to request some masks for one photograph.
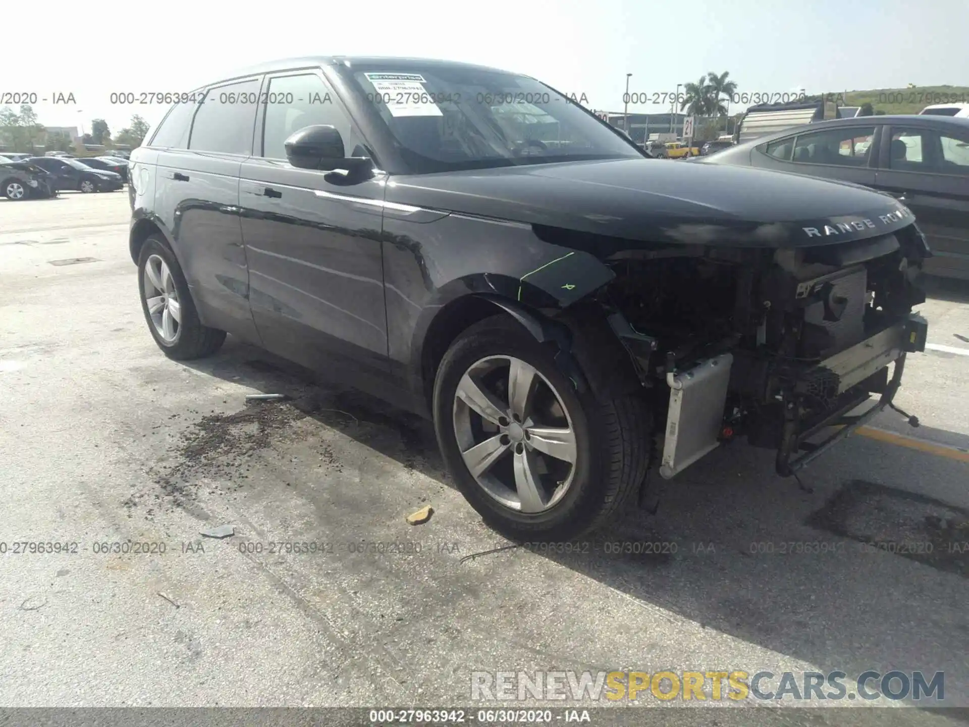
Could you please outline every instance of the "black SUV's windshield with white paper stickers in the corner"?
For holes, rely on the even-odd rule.
[[[523,76],[469,66],[354,65],[348,77],[415,172],[641,159],[592,114]]]

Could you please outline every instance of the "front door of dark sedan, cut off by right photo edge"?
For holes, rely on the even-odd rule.
[[[887,127],[876,187],[915,213],[935,255],[926,272],[969,278],[969,132]]]

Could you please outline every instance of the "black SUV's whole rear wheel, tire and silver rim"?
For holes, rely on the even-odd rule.
[[[141,245],[138,279],[144,320],[166,356],[188,361],[219,350],[226,332],[199,320],[185,275],[164,238],[152,235]]]

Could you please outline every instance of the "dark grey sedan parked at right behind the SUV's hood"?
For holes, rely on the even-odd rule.
[[[969,279],[969,118],[934,114],[818,121],[703,163],[808,174],[890,194],[915,212],[934,257],[925,272]]]

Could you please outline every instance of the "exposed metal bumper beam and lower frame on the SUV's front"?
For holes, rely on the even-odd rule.
[[[921,316],[913,314],[806,372],[798,380],[794,392],[784,397],[784,425],[781,446],[777,451],[777,473],[788,476],[803,469],[890,406],[901,386],[906,354],[924,350],[926,331]],[[875,393],[881,394],[878,402],[861,414],[849,414],[871,398],[870,385],[859,385],[866,380],[877,380],[875,374],[892,362],[894,370],[891,381],[886,384],[882,379],[882,386],[876,384],[878,389]],[[819,380],[827,380],[832,386],[832,394],[837,395],[836,404],[820,419],[805,422],[801,416],[800,397]],[[841,428],[821,442],[808,441],[828,427]]]

